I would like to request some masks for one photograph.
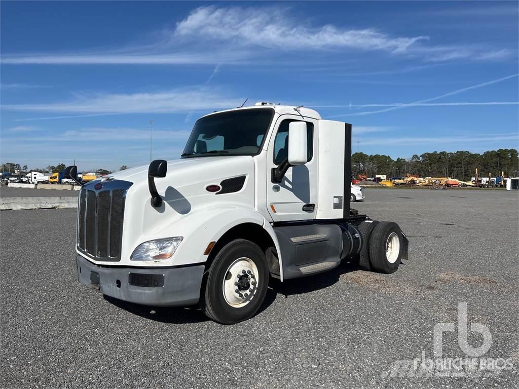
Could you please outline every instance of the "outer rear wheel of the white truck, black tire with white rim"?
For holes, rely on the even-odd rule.
[[[392,221],[380,221],[371,231],[370,263],[380,273],[397,271],[402,260],[402,230]]]

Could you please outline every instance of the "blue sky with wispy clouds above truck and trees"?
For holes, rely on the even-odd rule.
[[[350,122],[366,154],[517,148],[517,4],[2,2],[0,159],[146,164],[149,119],[177,158],[245,98]]]

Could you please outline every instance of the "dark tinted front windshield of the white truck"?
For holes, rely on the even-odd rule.
[[[255,108],[203,117],[195,123],[182,158],[256,155],[272,116],[273,109]]]

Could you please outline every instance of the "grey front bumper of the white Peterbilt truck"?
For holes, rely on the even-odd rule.
[[[79,254],[76,257],[76,267],[77,280],[81,284],[98,289],[103,295],[152,307],[196,304],[200,298],[204,271],[204,265],[166,269],[105,267],[94,265]],[[164,285],[130,285],[129,273],[163,274]],[[98,283],[92,283],[92,279]]]

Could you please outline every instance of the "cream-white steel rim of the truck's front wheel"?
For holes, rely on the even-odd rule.
[[[247,257],[236,259],[227,268],[223,279],[222,292],[225,302],[233,308],[244,307],[256,295],[259,282],[255,263]]]

